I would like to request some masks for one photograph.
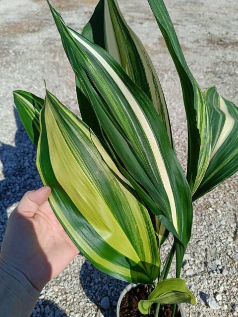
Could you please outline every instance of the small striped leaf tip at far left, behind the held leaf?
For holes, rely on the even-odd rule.
[[[37,146],[40,134],[39,116],[44,99],[23,90],[13,91],[13,96],[20,120],[32,143]]]

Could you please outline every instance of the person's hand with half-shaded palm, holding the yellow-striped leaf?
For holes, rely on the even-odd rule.
[[[38,290],[79,253],[51,209],[48,186],[27,192],[9,216],[0,261]],[[6,264],[6,265],[5,265]]]

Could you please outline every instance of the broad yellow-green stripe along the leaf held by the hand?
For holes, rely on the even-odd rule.
[[[135,250],[113,216],[109,206],[72,154],[73,148],[64,150],[68,145],[47,102],[45,111],[50,159],[58,182],[96,232],[118,252],[130,255],[130,258],[138,263],[139,258]],[[70,175],[70,177],[66,178],[65,175]],[[107,214],[107,219],[105,219],[105,214]],[[112,232],[115,228],[117,228],[116,237]],[[119,244],[118,240],[123,241],[123,244]]]

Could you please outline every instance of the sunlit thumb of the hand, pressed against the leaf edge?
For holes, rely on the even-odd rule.
[[[50,196],[51,188],[49,186],[41,187],[37,190],[26,192],[17,206],[18,211],[36,212]]]

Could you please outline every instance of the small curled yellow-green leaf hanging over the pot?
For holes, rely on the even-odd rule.
[[[187,289],[186,281],[179,278],[169,278],[159,282],[154,291],[148,296],[148,300],[141,300],[138,304],[139,311],[150,314],[151,305],[156,304],[180,304],[195,305],[193,294]]]

